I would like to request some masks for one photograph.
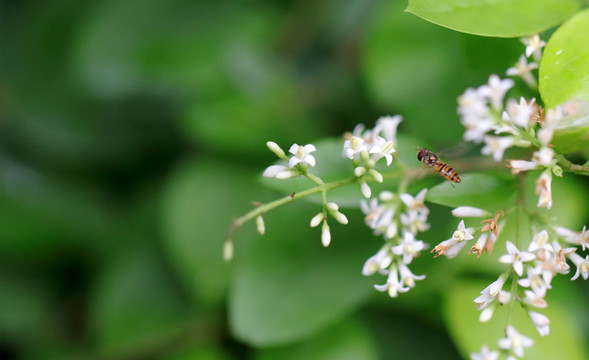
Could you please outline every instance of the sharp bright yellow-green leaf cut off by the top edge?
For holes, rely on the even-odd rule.
[[[556,26],[579,5],[577,0],[409,0],[406,11],[456,31],[515,37]]]

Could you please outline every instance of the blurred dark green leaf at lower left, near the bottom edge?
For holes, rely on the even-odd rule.
[[[91,294],[90,328],[104,354],[153,346],[187,323],[188,306],[147,244],[104,265]]]

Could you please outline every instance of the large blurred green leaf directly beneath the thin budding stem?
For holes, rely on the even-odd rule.
[[[309,219],[320,208],[295,202],[267,214],[266,234],[235,257],[229,324],[240,341],[254,346],[301,340],[354,311],[372,294],[362,264],[378,249],[361,224],[330,222],[332,242],[322,247]],[[369,241],[367,241],[369,240]],[[237,244],[236,244],[237,246]],[[385,281],[384,279],[382,280]]]

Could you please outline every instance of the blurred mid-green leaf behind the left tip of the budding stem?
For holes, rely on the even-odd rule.
[[[233,216],[261,200],[255,179],[247,167],[201,160],[183,164],[163,191],[164,248],[190,292],[207,304],[218,304],[225,294],[230,269],[222,257],[225,234]],[[247,225],[235,234],[237,243],[259,236]]]

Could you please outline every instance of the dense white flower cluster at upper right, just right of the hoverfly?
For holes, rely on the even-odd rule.
[[[537,68],[536,63],[528,64],[526,57],[534,55],[538,60],[545,42],[538,35],[523,38],[526,55],[522,55],[516,67],[507,70],[507,75],[520,75],[527,82],[535,84],[531,70]],[[531,159],[507,160],[507,166],[513,174],[521,171],[543,169],[536,180],[536,194],[539,195],[538,207],[552,207],[552,174],[562,176],[562,169],[556,165],[554,150],[550,142],[559,121],[564,117],[562,107],[550,109],[545,118],[542,110],[536,105],[536,99],[527,101],[521,97],[519,102],[507,99],[503,106],[503,98],[514,85],[513,80],[501,80],[491,75],[489,83],[477,89],[469,88],[458,97],[458,113],[460,122],[466,127],[464,140],[475,143],[484,142],[481,149],[483,155],[491,155],[495,161],[503,159],[505,150],[512,147],[537,146]],[[537,129],[536,123],[541,127]],[[492,133],[492,134],[490,134]]]

